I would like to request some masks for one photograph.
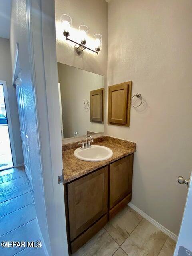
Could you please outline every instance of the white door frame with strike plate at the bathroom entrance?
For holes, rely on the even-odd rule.
[[[26,0],[47,231],[52,256],[68,256],[53,0]],[[48,250],[49,251],[49,250]]]

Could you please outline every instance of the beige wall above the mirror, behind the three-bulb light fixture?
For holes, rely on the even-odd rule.
[[[69,41],[66,42],[65,40],[59,40],[58,37],[60,35],[57,36],[59,29],[58,24],[60,23],[60,17],[62,14],[68,14],[71,16],[72,26],[74,28],[78,29],[81,24],[87,25],[90,37],[93,38],[94,34],[102,34],[102,50],[98,55],[90,51],[86,51],[83,55],[78,56],[76,52],[74,52],[74,44],[70,44]],[[55,0],[55,16],[57,61],[103,75],[105,76],[106,82],[108,3],[105,0]],[[106,113],[104,116],[106,116]],[[69,141],[71,141],[71,139]]]

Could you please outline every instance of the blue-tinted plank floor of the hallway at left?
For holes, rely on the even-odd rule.
[[[0,172],[0,243],[40,241],[32,192],[23,168]],[[45,256],[41,248],[3,248],[3,256]]]

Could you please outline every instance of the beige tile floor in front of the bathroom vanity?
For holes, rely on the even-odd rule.
[[[73,256],[172,256],[175,242],[126,206]]]

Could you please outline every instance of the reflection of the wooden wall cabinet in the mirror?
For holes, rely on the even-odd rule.
[[[90,91],[90,120],[103,121],[103,88]]]

